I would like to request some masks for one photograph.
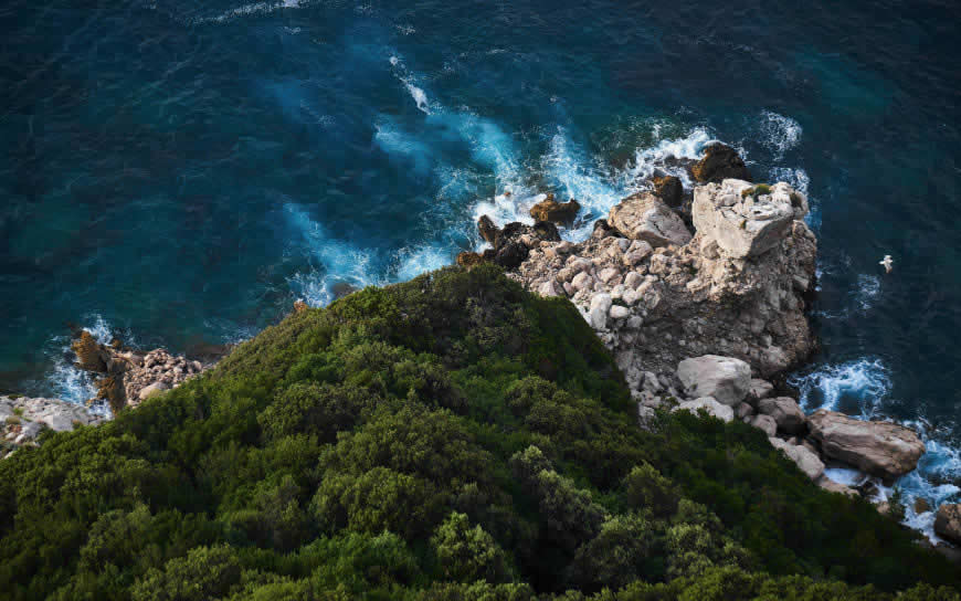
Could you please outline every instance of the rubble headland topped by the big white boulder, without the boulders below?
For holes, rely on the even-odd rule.
[[[805,197],[786,183],[751,196],[727,179],[694,190],[691,234],[651,192],[623,200],[584,242],[531,239],[511,275],[543,296],[566,296],[613,351],[633,388],[644,371],[722,355],[761,376],[813,349],[804,315],[814,234]],[[744,193],[747,191],[747,193]]]

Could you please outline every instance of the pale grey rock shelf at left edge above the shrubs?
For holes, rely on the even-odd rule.
[[[77,425],[96,425],[103,421],[103,415],[66,401],[0,397],[0,458],[20,446],[35,445],[44,430],[68,432]]]

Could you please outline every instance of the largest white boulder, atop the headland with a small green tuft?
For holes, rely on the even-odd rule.
[[[807,201],[784,182],[757,190],[739,179],[695,188],[695,229],[732,259],[758,256],[777,246],[791,222],[807,212]]]

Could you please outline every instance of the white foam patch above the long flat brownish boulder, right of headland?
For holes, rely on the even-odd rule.
[[[795,375],[789,383],[800,391],[799,402],[807,411],[830,409],[872,419],[891,389],[887,367],[878,358],[866,357],[841,365],[823,366],[806,375]]]

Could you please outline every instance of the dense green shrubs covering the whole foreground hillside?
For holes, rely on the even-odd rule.
[[[0,591],[958,599],[946,559],[759,431],[658,421],[572,305],[497,267],[368,288],[0,462]]]

